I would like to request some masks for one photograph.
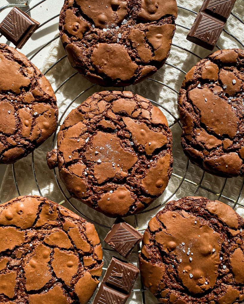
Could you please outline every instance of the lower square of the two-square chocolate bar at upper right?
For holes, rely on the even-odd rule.
[[[200,11],[186,39],[213,50],[224,26],[225,22]]]

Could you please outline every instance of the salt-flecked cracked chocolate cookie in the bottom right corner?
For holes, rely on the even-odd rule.
[[[167,304],[244,299],[244,220],[203,197],[166,204],[148,223],[139,256],[146,288]]]

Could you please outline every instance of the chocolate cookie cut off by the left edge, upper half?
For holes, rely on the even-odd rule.
[[[49,81],[23,54],[0,43],[0,164],[12,164],[40,146],[57,125]]]

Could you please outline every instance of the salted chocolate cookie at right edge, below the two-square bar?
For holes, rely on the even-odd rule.
[[[222,177],[244,176],[244,51],[198,62],[179,92],[181,143],[190,161]]]

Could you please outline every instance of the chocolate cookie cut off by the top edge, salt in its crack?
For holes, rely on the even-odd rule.
[[[69,61],[88,80],[124,86],[168,58],[176,0],[65,0],[59,30]]]

